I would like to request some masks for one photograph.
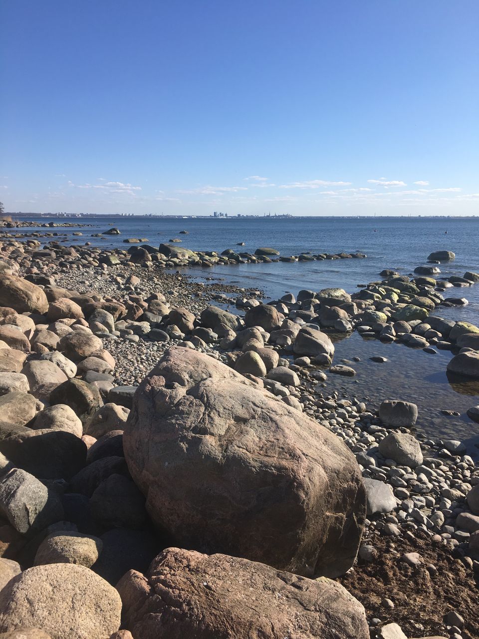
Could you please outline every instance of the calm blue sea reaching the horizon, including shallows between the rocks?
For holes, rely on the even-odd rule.
[[[59,222],[57,217],[42,218],[42,222]],[[259,263],[211,268],[181,269],[197,281],[223,282],[244,288],[261,289],[265,301],[278,299],[285,293],[296,295],[301,289],[319,291],[340,287],[348,293],[358,291],[358,285],[381,279],[384,268],[412,275],[416,266],[425,265],[430,252],[452,250],[455,259],[439,265],[436,277],[479,272],[479,217],[197,217],[172,219],[165,217],[102,217],[71,219],[91,224],[91,227],[60,228],[59,240],[68,245],[90,242],[102,248],[128,249],[126,238],[144,238],[151,245],[169,243],[178,238],[178,247],[192,250],[224,249],[254,252],[258,247],[277,249],[282,256],[302,252],[337,253],[363,252],[365,259],[335,259],[294,263]],[[117,227],[121,235],[103,235],[110,227]],[[13,231],[13,229],[12,229]],[[40,231],[17,229],[19,233]],[[82,236],[73,236],[80,231]],[[187,235],[180,231],[188,231]],[[239,242],[244,242],[239,246]],[[211,280],[212,279],[212,280]],[[450,288],[445,297],[465,297],[463,307],[438,307],[435,315],[466,320],[479,325],[479,283],[466,288]],[[234,311],[234,304],[231,305]],[[417,429],[430,438],[458,439],[468,445],[469,454],[477,458],[479,424],[466,415],[471,406],[479,404],[479,381],[451,378],[446,366],[452,353],[437,351],[436,355],[407,348],[404,344],[383,344],[376,339],[352,335],[335,335],[335,362],[360,357],[354,362],[354,378],[328,375],[324,391],[354,393],[367,398],[374,405],[383,399],[404,399],[418,404]],[[381,355],[387,362],[378,364],[370,357]],[[446,416],[442,410],[459,412]]]

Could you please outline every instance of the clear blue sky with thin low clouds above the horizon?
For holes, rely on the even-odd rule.
[[[0,0],[7,211],[479,214],[477,0]]]

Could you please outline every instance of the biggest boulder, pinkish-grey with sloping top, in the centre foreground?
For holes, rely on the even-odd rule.
[[[167,351],[133,398],[123,446],[151,518],[181,546],[298,574],[352,566],[365,516],[353,455],[217,360]]]

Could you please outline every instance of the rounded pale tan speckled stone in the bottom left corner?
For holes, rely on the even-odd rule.
[[[121,599],[84,566],[34,566],[0,592],[0,630],[40,627],[52,639],[107,639],[119,629]]]

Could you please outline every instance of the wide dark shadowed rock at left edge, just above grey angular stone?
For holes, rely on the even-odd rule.
[[[0,452],[39,479],[71,479],[86,462],[86,445],[66,431],[31,430],[0,442]]]

